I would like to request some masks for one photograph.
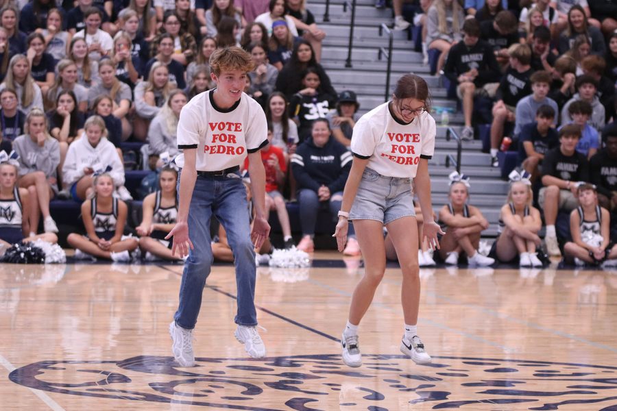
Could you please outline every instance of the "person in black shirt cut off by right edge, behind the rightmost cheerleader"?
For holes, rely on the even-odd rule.
[[[617,210],[617,123],[607,124],[604,148],[590,160],[590,178],[598,190],[600,205]]]

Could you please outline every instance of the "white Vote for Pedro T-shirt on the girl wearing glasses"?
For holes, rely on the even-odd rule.
[[[409,124],[394,117],[389,103],[364,114],[354,126],[351,150],[367,167],[387,177],[415,177],[420,158],[435,151],[435,119],[422,112]]]

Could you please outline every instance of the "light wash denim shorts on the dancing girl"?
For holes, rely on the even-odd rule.
[[[349,219],[376,220],[386,225],[407,216],[415,217],[411,178],[386,177],[364,169]]]

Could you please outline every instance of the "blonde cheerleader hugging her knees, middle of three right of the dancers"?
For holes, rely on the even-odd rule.
[[[479,208],[467,203],[469,182],[459,173],[450,174],[450,202],[439,211],[439,221],[446,234],[439,240],[439,255],[448,265],[459,264],[461,253],[470,265],[489,266],[494,258],[478,252],[481,233],[489,227]]]

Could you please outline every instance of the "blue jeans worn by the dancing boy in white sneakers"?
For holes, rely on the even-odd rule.
[[[178,176],[180,191],[180,176]],[[255,311],[255,252],[250,236],[246,190],[242,179],[198,175],[189,208],[189,238],[195,249],[184,263],[180,284],[180,304],[174,319],[182,328],[197,323],[202,293],[213,262],[210,245],[210,218],[215,215],[227,232],[234,253],[237,286],[237,314],[234,322],[247,327],[257,325]]]

